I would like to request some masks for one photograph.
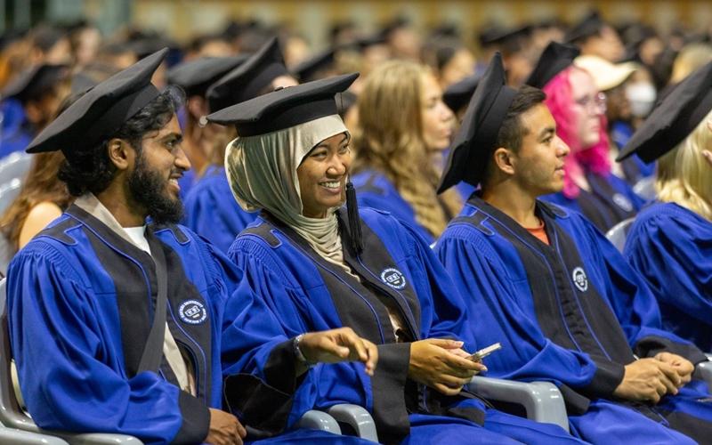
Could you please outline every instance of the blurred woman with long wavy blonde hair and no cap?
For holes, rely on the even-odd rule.
[[[360,206],[390,212],[433,243],[460,211],[456,190],[435,193],[455,116],[430,69],[392,61],[366,78],[354,132]]]

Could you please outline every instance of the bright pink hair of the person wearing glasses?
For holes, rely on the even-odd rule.
[[[570,83],[570,75],[576,67],[569,67],[554,76],[543,88],[546,93],[546,106],[556,121],[556,134],[566,142],[571,149],[570,156],[564,159],[563,195],[566,198],[578,197],[578,185],[571,179],[572,175],[583,175],[585,171],[594,174],[610,174],[609,139],[606,134],[608,122],[601,116],[601,129],[598,142],[591,147],[581,147],[578,139],[576,121],[570,109],[574,106],[574,98]]]

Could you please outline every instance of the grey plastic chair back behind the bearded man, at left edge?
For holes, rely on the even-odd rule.
[[[39,428],[20,409],[12,387],[12,349],[7,325],[7,279],[0,280],[0,423],[10,428],[39,432]]]

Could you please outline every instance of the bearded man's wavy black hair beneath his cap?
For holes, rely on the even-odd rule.
[[[59,178],[67,183],[69,193],[78,197],[87,191],[100,193],[106,190],[117,170],[109,158],[109,141],[123,139],[140,156],[143,137],[163,128],[184,101],[185,95],[180,87],[171,85],[102,142],[88,149],[68,147],[62,150],[67,159],[60,167]]]

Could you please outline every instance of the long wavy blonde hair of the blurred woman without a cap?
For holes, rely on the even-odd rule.
[[[440,162],[423,136],[423,78],[430,69],[411,61],[389,61],[366,77],[360,93],[359,128],[353,135],[353,171],[376,169],[391,180],[416,214],[416,221],[439,237],[448,214],[462,202],[450,189],[436,193]]]

